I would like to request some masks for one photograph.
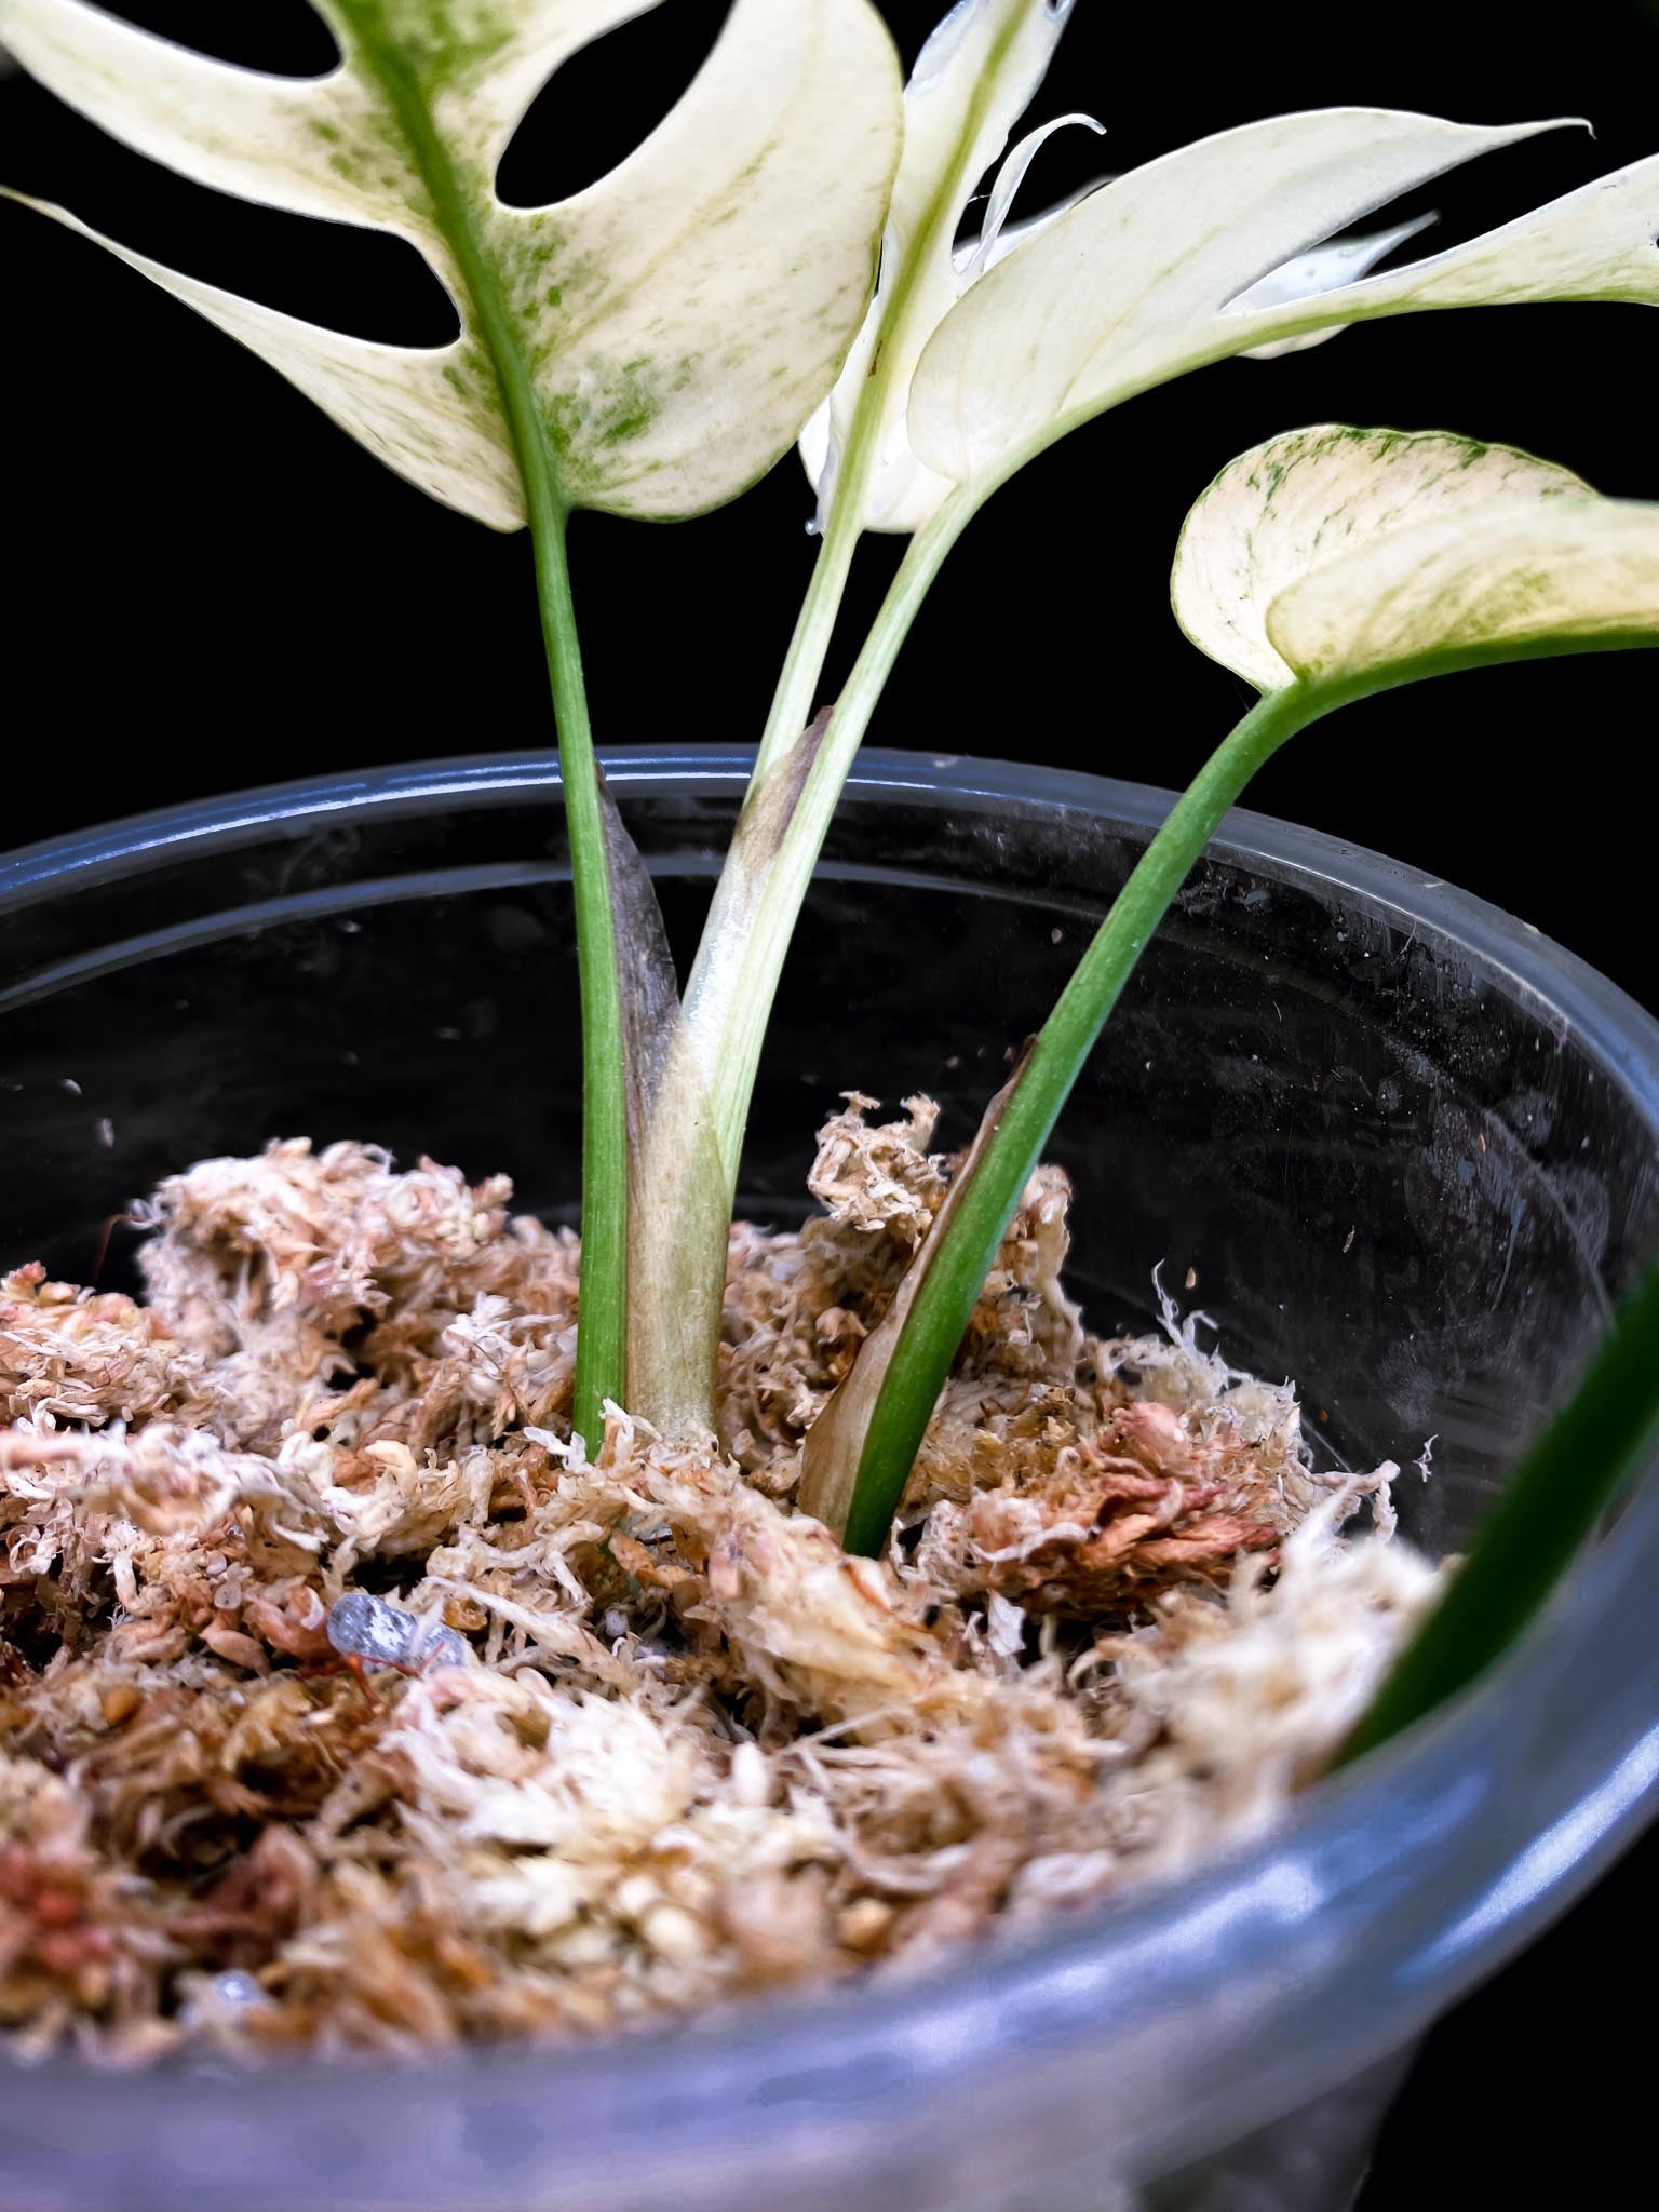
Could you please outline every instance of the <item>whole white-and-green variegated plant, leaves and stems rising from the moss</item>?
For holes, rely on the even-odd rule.
[[[0,40],[142,153],[246,199],[396,232],[447,285],[460,321],[449,345],[374,345],[100,241],[434,498],[495,529],[529,524],[582,958],[575,1427],[597,1440],[606,1400],[659,1427],[708,1425],[726,1228],[783,956],[885,677],[964,524],[1068,429],[1230,354],[1270,358],[1416,310],[1659,303],[1659,159],[1383,272],[1420,226],[1356,226],[1553,126],[1287,115],[1013,221],[1057,124],[1011,150],[1009,137],[1075,0],[960,0],[902,95],[869,0],[734,0],[703,71],[628,159],[573,199],[520,210],[500,201],[495,168],[542,82],[659,0],[316,4],[338,64],[314,80],[186,53],[86,0],[0,0]],[[566,520],[580,507],[699,513],[796,438],[818,557],[681,1004],[593,761]],[[865,531],[909,546],[841,697],[818,710]],[[1659,520],[1517,453],[1298,431],[1234,462],[1199,502],[1175,602],[1263,697],[1150,845],[807,1440],[805,1500],[854,1546],[885,1540],[1037,1148],[1259,761],[1369,690],[1655,641]]]

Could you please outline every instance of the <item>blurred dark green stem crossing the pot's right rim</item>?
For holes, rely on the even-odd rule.
[[[1520,1462],[1336,1754],[1352,1765],[1478,1681],[1551,1590],[1659,1442],[1659,1263],[1619,1307],[1573,1396]]]

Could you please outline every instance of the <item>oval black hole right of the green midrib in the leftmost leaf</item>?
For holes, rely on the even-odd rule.
[[[509,208],[546,208],[606,177],[681,100],[730,0],[677,0],[573,53],[531,102],[495,170]]]

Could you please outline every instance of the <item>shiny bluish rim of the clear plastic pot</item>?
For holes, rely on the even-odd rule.
[[[602,761],[626,810],[630,792],[737,794],[752,750],[653,745],[608,750]],[[420,814],[438,803],[491,807],[557,790],[555,759],[513,752],[164,807],[0,858],[0,914],[310,818]],[[843,805],[900,794],[962,812],[1057,807],[1148,832],[1172,805],[1170,792],[1139,783],[883,750],[860,754]],[[1564,1035],[1577,1031],[1579,1044],[1606,1064],[1659,1150],[1659,1022],[1586,962],[1486,900],[1314,830],[1234,810],[1214,847],[1267,874],[1367,900],[1504,971],[1553,1011]],[[785,2141],[785,2163],[774,2166],[774,2181],[783,2181],[794,2154],[787,2143],[799,2139],[814,2146],[816,2161],[825,2143],[843,2146],[836,2157],[845,2152],[858,2161],[860,2181],[874,2181],[922,2119],[931,2128],[984,2130],[989,2104],[1024,2097],[1024,2110],[1035,2097],[1044,2106],[1053,2093],[1042,2097],[1037,2079],[1064,2075],[1093,2079],[1086,2095],[1095,2135],[1104,2128],[1130,2166],[1137,2157],[1161,2166],[1197,2154],[1241,2124],[1259,2126],[1301,2101],[1310,2081],[1345,2079],[1420,2031],[1566,1909],[1650,1816],[1659,1803],[1659,1617],[1644,1628],[1644,1601],[1655,1571],[1659,1484],[1648,1480],[1624,1513],[1617,1544],[1579,1562],[1544,1619],[1484,1683],[1310,1792],[1283,1827],[1177,1882],[1066,1913],[914,1982],[774,1997],[571,2051],[365,2059],[347,2068],[294,2059],[237,2077],[230,2099],[223,2075],[197,2066],[122,2077],[51,2059],[27,2079],[0,2075],[0,2146],[27,2137],[27,2152],[40,2157],[55,2143],[66,2170],[75,2168],[95,2110],[100,2128],[119,2130],[131,2152],[146,2146],[150,2157],[173,2161],[161,2168],[173,2203],[197,2203],[192,2183],[206,2203],[241,2161],[274,2174],[279,2143],[292,2161],[292,2108],[303,2084],[305,2154],[327,2157],[321,2170],[336,2174],[341,2161],[352,2166],[354,2203],[378,2201],[367,2190],[369,2172],[392,2201],[400,2152],[387,2163],[387,2146],[400,2135],[425,2141],[411,2174],[425,2185],[445,2181],[456,2201],[465,2192],[471,2205],[529,2203],[526,2192],[551,2188],[555,2174],[564,2190],[588,2157],[599,2174],[615,2166],[615,2143],[628,2130],[644,2130],[659,2150],[672,2141],[681,2179],[695,2172],[699,2146],[719,2163],[748,2139],[757,2150],[765,2143],[768,2157]],[[1475,1807],[1482,1845],[1471,1856],[1460,1832]],[[1329,2035],[1321,1995],[1338,1984],[1349,2024]],[[1239,1991],[1245,2006],[1232,2022],[1230,2068],[1221,2064],[1221,2015],[1241,2000],[1228,1991]],[[1225,2002],[1208,2002],[1217,1997]],[[1206,2004],[1217,2017],[1214,2051],[1194,2044],[1190,2028],[1192,2008]],[[1135,2084],[1146,2097],[1146,2084],[1172,2064],[1166,2033],[1175,2020],[1183,2022],[1181,2062],[1192,2066],[1190,2110],[1179,2126],[1164,2115],[1137,2128]],[[1259,2044],[1243,2064],[1241,2022],[1245,2039]],[[987,2053],[995,2057],[995,2090],[987,2088]],[[1088,2066],[1077,2073],[1082,2062]],[[1110,2070],[1124,2077],[1115,2093],[1104,2086]],[[411,2099],[422,2106],[427,2135],[442,2119],[436,2148],[409,2126]],[[13,2101],[27,2106],[15,2124]],[[478,2137],[469,2132],[482,2112],[504,2130],[509,2152],[489,2174],[478,2168]],[[706,2139],[710,2126],[719,2143]],[[582,2152],[577,2141],[586,2143]],[[190,2172],[177,2163],[186,2152]],[[701,2197],[690,2188],[686,2201]]]

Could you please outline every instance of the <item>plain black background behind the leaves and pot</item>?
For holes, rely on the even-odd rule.
[[[907,60],[938,7],[883,0]],[[122,11],[254,66],[330,60],[303,0]],[[580,55],[511,148],[504,195],[535,204],[604,173],[679,95],[721,15],[723,0],[670,0]],[[1659,13],[1079,0],[1037,113],[1091,108],[1108,137],[1055,139],[1031,204],[1208,131],[1349,102],[1593,119],[1595,142],[1551,135],[1402,204],[1438,208],[1451,243],[1659,146]],[[20,80],[0,84],[0,148],[4,181],[208,281],[376,338],[440,343],[453,327],[414,250],[215,199]],[[0,208],[0,254],[7,843],[319,770],[551,743],[522,535],[394,480],[95,248]],[[1245,703],[1168,615],[1175,533],[1217,467],[1270,431],[1352,420],[1509,440],[1604,491],[1659,498],[1657,372],[1648,310],[1528,307],[1407,316],[1150,394],[1051,451],[971,526],[874,741],[1179,785]],[[785,460],[679,529],[577,518],[602,741],[759,732],[812,560],[810,509]],[[894,557],[889,542],[867,549],[849,637]],[[1639,911],[1652,832],[1632,796],[1652,699],[1648,655],[1444,681],[1298,741],[1252,803],[1480,891],[1652,1000]],[[1632,1947],[1652,1955],[1655,1871],[1650,1845],[1431,2037],[1363,2212],[1526,2203],[1568,2181],[1579,2199],[1610,2194],[1646,2135],[1641,2035],[1621,2015],[1646,1984]]]

